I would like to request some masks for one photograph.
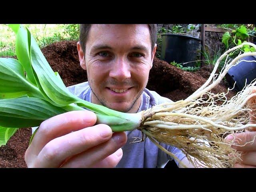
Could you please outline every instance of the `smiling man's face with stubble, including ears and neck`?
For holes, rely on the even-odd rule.
[[[80,64],[87,70],[92,102],[121,112],[136,112],[148,82],[152,50],[147,24],[94,24]]]

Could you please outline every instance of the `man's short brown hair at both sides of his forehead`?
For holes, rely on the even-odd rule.
[[[88,34],[90,31],[92,24],[80,24],[80,36],[79,41],[82,46],[82,50],[85,52],[86,42],[88,39]],[[157,39],[157,27],[156,24],[148,24],[149,33],[150,33],[150,40],[151,40],[151,48],[154,49]]]

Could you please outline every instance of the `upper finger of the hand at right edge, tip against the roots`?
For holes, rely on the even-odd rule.
[[[234,137],[235,136],[235,137]],[[226,140],[234,141],[232,147],[238,151],[253,151],[256,150],[256,132],[242,132],[233,135],[228,135]]]

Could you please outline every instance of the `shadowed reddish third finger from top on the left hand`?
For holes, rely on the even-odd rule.
[[[94,164],[102,161],[106,157],[110,156],[116,150],[121,148],[127,141],[125,132],[116,132],[112,138],[107,142],[104,142],[94,148],[74,156],[61,166],[62,168],[87,168],[92,167]]]

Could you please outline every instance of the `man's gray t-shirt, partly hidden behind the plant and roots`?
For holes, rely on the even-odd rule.
[[[68,87],[68,90],[77,97],[91,102],[92,90],[90,89],[88,82],[70,86]],[[154,91],[145,89],[142,93],[142,102],[138,112],[163,102],[172,101],[160,96]],[[173,160],[172,157],[162,152],[162,150],[152,143],[149,138],[146,138],[143,142],[130,143],[134,141],[134,138],[142,138],[141,131],[126,131],[126,134],[128,138],[127,143],[122,147],[123,157],[116,166],[117,168],[162,168],[169,160]],[[174,146],[163,143],[160,143],[160,145],[175,154],[180,160],[186,156],[181,150]],[[178,165],[176,160],[175,162]]]

